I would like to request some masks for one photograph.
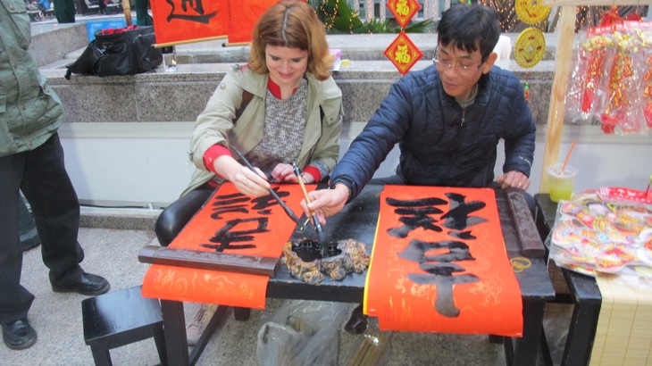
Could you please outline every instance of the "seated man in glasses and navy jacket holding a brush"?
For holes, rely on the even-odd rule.
[[[492,51],[500,31],[497,12],[489,7],[459,4],[444,12],[434,65],[391,87],[330,174],[330,189],[311,192],[311,203],[302,203],[305,211],[316,212],[325,224],[325,217],[360,193],[396,144],[397,175],[381,183],[530,187],[536,127],[519,80],[494,67],[497,54]],[[501,138],[504,174],[494,179]],[[364,328],[355,317],[346,327],[354,332]]]

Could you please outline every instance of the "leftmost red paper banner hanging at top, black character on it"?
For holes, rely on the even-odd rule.
[[[152,0],[156,43],[227,36],[228,0]]]

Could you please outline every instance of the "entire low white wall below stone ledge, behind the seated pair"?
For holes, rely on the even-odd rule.
[[[343,132],[343,152],[363,127],[363,122],[356,122]],[[60,136],[79,200],[110,207],[170,204],[187,186],[194,169],[187,154],[192,128],[193,122],[64,124]],[[539,129],[537,135],[531,194],[539,192],[545,133]],[[652,137],[605,136],[596,126],[565,126],[560,160],[573,139],[577,146],[569,164],[580,169],[576,190],[647,187],[652,174]],[[502,146],[498,151],[497,173],[503,164]],[[397,162],[395,149],[376,177],[393,174]]]

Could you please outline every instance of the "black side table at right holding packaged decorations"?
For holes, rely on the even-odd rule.
[[[546,238],[550,230],[555,226],[557,204],[550,200],[548,194],[534,195],[534,200],[537,203],[535,215],[537,227],[541,237]],[[548,241],[547,245],[549,245]],[[556,295],[554,302],[574,305],[561,364],[568,366],[588,365],[596,337],[596,329],[598,328],[602,295],[600,295],[600,289],[594,278],[573,270],[564,268],[561,270],[570,291],[570,297]],[[545,337],[542,339],[545,340]],[[548,362],[548,364],[551,364],[549,357]]]

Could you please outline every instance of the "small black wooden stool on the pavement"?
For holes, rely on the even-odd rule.
[[[84,340],[97,366],[112,365],[109,350],[154,337],[162,364],[166,364],[161,305],[131,287],[82,300]]]

